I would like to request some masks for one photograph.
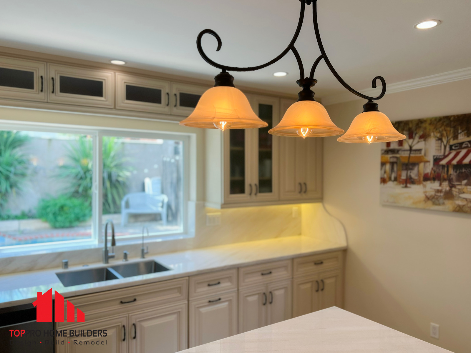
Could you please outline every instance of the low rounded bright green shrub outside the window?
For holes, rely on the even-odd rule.
[[[37,217],[53,228],[69,228],[89,219],[91,206],[81,199],[61,195],[39,201]]]

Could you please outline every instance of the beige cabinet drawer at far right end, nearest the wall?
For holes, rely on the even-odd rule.
[[[293,276],[296,277],[305,274],[316,273],[318,271],[341,267],[341,265],[341,251],[299,257],[293,260]]]

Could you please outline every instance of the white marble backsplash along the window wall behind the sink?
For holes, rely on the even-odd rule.
[[[293,207],[298,208],[297,217],[293,217]],[[195,223],[190,225],[190,236],[183,239],[147,241],[149,256],[174,251],[198,249],[209,246],[257,241],[301,234],[301,205],[277,205],[264,207],[244,207],[233,209],[209,209],[203,202],[196,202]],[[207,226],[206,213],[220,212],[221,225]],[[191,236],[194,234],[194,237]],[[309,236],[309,234],[304,234]],[[124,250],[130,258],[140,255],[140,243],[120,245],[114,248],[117,258]],[[102,248],[72,251],[44,251],[34,255],[0,257],[0,274],[17,273],[61,265],[63,259],[69,260],[70,266],[95,263],[101,260]]]

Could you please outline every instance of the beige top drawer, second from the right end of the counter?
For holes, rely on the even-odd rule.
[[[291,278],[291,260],[239,268],[239,287]]]

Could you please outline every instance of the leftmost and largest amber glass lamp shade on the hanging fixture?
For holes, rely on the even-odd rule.
[[[195,110],[180,121],[194,128],[264,128],[268,126],[253,112],[247,97],[235,87],[217,86],[201,96]]]

